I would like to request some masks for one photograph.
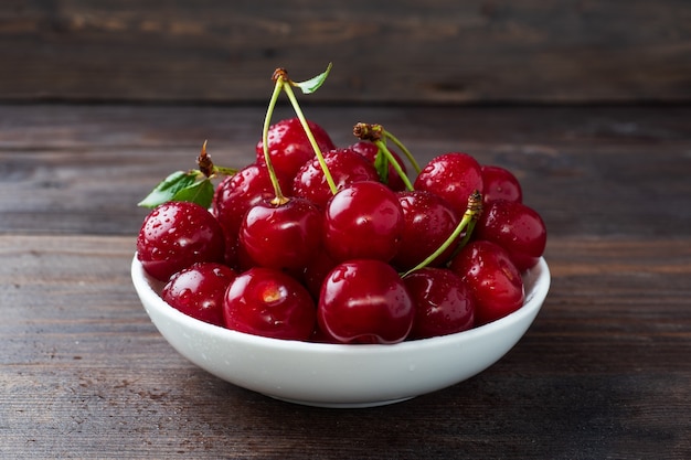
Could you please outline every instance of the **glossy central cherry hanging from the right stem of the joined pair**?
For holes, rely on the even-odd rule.
[[[390,261],[398,252],[404,217],[396,194],[380,182],[346,185],[325,210],[323,246],[336,261]]]

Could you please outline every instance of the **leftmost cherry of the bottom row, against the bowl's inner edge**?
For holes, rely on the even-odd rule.
[[[223,299],[236,276],[235,270],[223,264],[194,264],[173,275],[161,297],[187,315],[224,327]]]

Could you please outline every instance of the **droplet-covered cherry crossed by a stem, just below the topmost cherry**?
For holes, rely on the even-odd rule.
[[[331,173],[337,190],[360,181],[379,181],[372,165],[360,153],[350,149],[336,149],[323,153],[323,160]],[[293,194],[305,197],[323,208],[333,196],[317,159],[310,160],[300,168],[293,181]]]

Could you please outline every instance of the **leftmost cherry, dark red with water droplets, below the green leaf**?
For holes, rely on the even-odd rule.
[[[137,236],[137,257],[161,281],[199,261],[223,261],[224,236],[216,218],[190,202],[168,202],[143,220]]]

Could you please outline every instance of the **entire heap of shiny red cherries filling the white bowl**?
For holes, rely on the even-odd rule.
[[[146,216],[137,257],[164,282],[163,300],[256,335],[386,344],[523,304],[521,274],[546,231],[514,174],[449,152],[414,164],[411,182],[381,140],[337,148],[319,125],[309,130],[311,141],[298,118],[272,125],[266,151],[259,140],[256,161],[224,176],[209,208],[169,200]]]

